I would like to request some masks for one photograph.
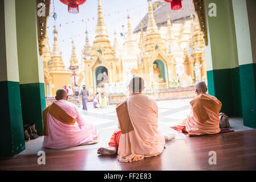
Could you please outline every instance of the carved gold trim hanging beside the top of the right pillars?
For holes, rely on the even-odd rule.
[[[197,13],[200,22],[201,31],[204,33],[205,46],[208,46],[208,34],[205,21],[205,0],[193,0],[194,10]]]

